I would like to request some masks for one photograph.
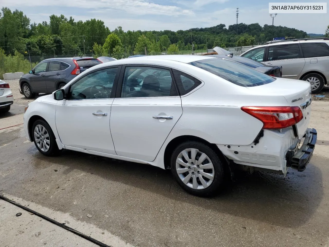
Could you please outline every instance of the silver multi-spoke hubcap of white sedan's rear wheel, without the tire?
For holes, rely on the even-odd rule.
[[[176,159],[178,177],[192,189],[205,189],[215,178],[214,165],[210,158],[198,149],[185,149]]]

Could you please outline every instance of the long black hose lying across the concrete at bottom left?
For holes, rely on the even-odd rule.
[[[75,229],[73,229],[73,228],[70,228],[70,227],[68,227],[68,226],[66,226],[66,225],[64,225],[64,224],[62,224],[62,223],[59,223],[58,221],[53,220],[53,219],[51,219],[51,218],[49,218],[49,217],[47,217],[47,216],[45,216],[45,215],[43,215],[43,214],[40,214],[40,213],[38,213],[38,212],[36,212],[36,211],[34,211],[34,210],[32,210],[32,209],[26,207],[26,206],[22,206],[22,205],[20,205],[20,204],[14,202],[14,201],[8,199],[7,197],[4,197],[3,195],[0,195],[0,199],[4,200],[4,201],[6,201],[6,202],[9,202],[9,203],[11,203],[11,204],[13,204],[13,205],[15,205],[15,206],[18,206],[18,207],[20,207],[20,208],[22,208],[22,209],[24,209],[24,210],[26,210],[26,211],[28,211],[28,212],[30,212],[30,213],[33,213],[33,214],[35,214],[35,215],[41,217],[42,219],[45,219],[45,220],[47,220],[47,221],[49,221],[49,222],[51,222],[51,223],[53,223],[53,224],[55,224],[55,225],[57,225],[57,226],[59,226],[59,227],[62,227],[62,228],[64,228],[64,229],[66,229],[67,231],[70,231],[71,233],[74,233],[74,234],[76,234],[76,235],[78,235],[78,236],[80,236],[80,237],[83,237],[84,239],[89,240],[90,242],[92,242],[92,243],[94,243],[94,244],[97,244],[97,245],[99,245],[99,246],[101,246],[101,247],[112,247],[112,246],[106,245],[106,244],[104,244],[104,243],[102,243],[102,242],[99,242],[98,240],[96,240],[96,239],[94,239],[94,238],[92,238],[92,237],[89,237],[89,236],[87,236],[87,235],[85,235],[85,234],[83,234],[83,233],[80,233],[80,232],[78,232],[77,230],[75,230]]]

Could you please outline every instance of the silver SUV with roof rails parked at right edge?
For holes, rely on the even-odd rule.
[[[266,65],[282,66],[282,77],[308,81],[318,93],[329,81],[329,38],[269,41],[241,54]]]

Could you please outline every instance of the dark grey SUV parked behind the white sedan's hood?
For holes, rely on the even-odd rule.
[[[19,92],[26,98],[52,93],[81,72],[102,62],[93,57],[50,58],[41,61],[19,80]]]

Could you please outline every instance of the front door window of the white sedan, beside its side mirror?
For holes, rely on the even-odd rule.
[[[67,99],[110,98],[117,68],[92,72],[75,82]]]

